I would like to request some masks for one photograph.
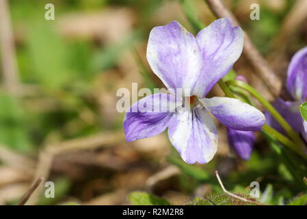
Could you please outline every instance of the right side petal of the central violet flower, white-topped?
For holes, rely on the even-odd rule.
[[[265,116],[262,112],[238,99],[215,96],[199,100],[219,122],[229,128],[259,131],[265,124]]]

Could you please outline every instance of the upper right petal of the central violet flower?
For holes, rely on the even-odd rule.
[[[193,95],[204,97],[226,75],[243,49],[243,31],[232,27],[228,18],[220,18],[196,36],[202,49],[203,66]]]

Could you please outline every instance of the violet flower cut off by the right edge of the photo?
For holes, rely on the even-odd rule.
[[[307,98],[307,47],[299,50],[292,57],[286,78],[286,89],[295,101],[284,101],[278,98],[273,106],[295,131],[302,133],[307,142],[307,123],[299,112],[299,105]],[[269,112],[265,112],[265,117],[268,125],[284,132]]]

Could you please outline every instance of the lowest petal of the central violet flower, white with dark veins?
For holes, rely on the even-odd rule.
[[[178,109],[168,128],[168,136],[188,164],[206,164],[217,151],[217,131],[204,107]]]

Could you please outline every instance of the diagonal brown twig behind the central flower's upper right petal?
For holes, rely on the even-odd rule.
[[[209,8],[218,18],[227,17],[230,19],[232,25],[239,26],[237,18],[226,8],[221,0],[205,0],[209,5]],[[282,83],[276,76],[276,74],[271,70],[267,61],[263,58],[261,53],[252,43],[252,40],[244,33],[244,45],[243,45],[243,55],[250,62],[252,67],[256,70],[256,75],[265,83],[265,86],[273,96],[278,96],[282,88]]]

